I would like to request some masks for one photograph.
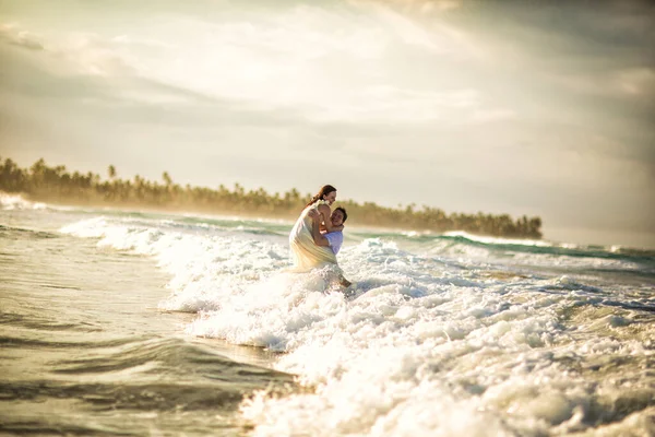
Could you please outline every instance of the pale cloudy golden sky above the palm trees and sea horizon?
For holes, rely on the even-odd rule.
[[[0,156],[655,248],[654,4],[0,0]]]

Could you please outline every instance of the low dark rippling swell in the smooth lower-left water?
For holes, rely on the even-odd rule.
[[[70,399],[94,411],[189,412],[236,409],[243,390],[293,383],[289,375],[235,363],[182,339],[98,343],[75,355],[50,363],[57,379],[14,380],[1,386],[0,395],[4,401]]]

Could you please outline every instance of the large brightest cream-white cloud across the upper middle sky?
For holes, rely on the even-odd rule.
[[[226,15],[217,22],[168,17],[118,36],[50,35],[47,45],[40,39],[48,55],[43,64],[61,74],[104,78],[116,85],[118,98],[153,104],[178,98],[124,86],[140,80],[318,123],[480,122],[496,110],[483,98],[471,99],[477,91],[417,85],[413,75],[420,72],[393,64],[397,55],[412,62],[441,61],[445,69],[460,62],[467,48],[448,26],[424,27],[380,5]],[[12,40],[21,34],[27,33],[8,32]]]

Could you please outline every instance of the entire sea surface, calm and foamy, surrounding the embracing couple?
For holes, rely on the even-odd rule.
[[[653,251],[0,202],[4,433],[655,435]]]

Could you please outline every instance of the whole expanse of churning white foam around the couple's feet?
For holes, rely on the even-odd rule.
[[[481,261],[461,267],[471,253],[433,257],[367,238],[340,252],[357,282],[347,299],[330,271],[285,272],[283,236],[115,217],[62,232],[155,257],[172,276],[162,306],[199,311],[189,333],[285,352],[275,366],[310,389],[245,401],[254,435],[565,434],[609,416],[614,404],[597,393],[615,399],[623,380],[655,394],[641,367],[655,323],[603,306],[598,290],[568,276],[489,280]],[[642,298],[632,293],[630,302]],[[615,379],[585,371],[611,359],[635,364]],[[635,414],[620,429],[643,429]]]

